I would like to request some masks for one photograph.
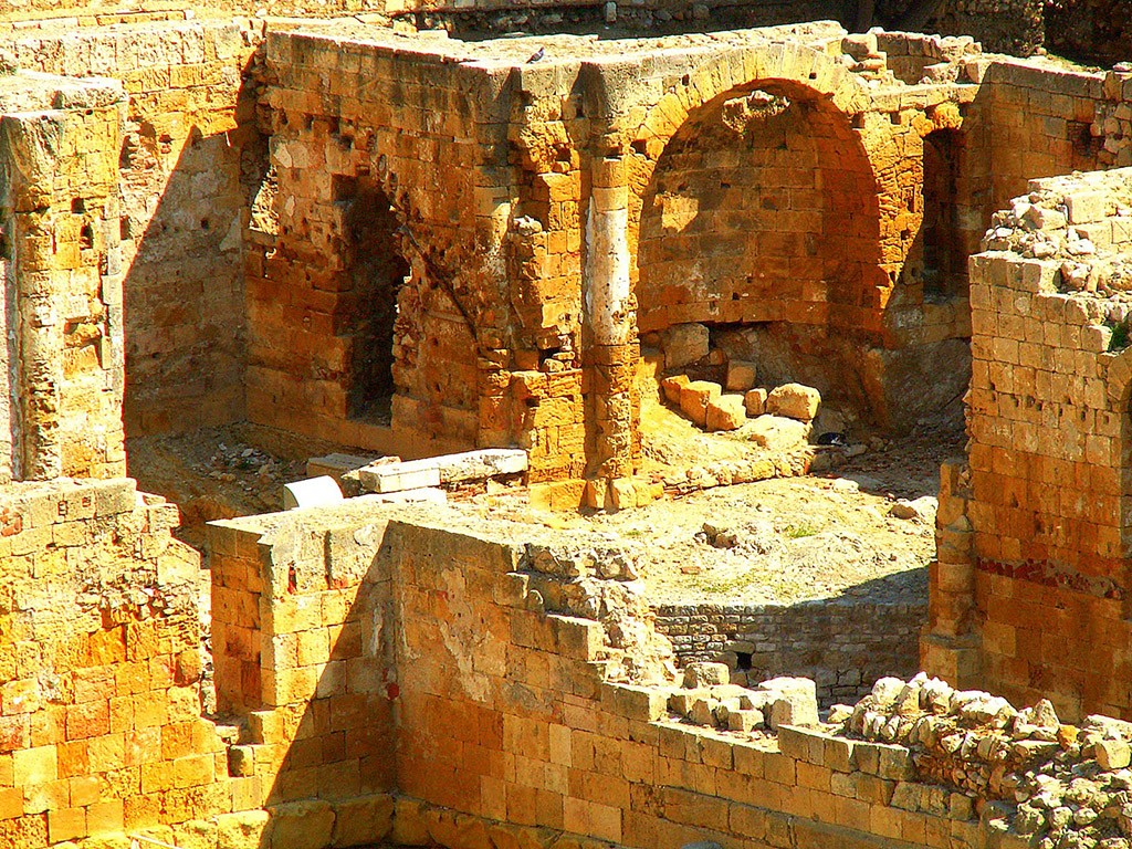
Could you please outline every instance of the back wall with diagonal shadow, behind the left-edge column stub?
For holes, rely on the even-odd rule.
[[[125,138],[105,149],[120,169],[113,241],[130,436],[243,418],[241,256],[263,156],[247,76],[258,37],[247,24],[183,16],[0,35],[22,68],[114,77],[129,96]]]

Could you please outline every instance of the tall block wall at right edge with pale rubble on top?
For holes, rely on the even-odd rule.
[[[967,469],[945,470],[925,664],[1127,715],[1126,169],[1036,180],[971,260]]]

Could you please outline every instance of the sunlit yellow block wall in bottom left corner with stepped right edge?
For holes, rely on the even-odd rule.
[[[31,849],[226,811],[200,717],[199,557],[134,482],[9,484],[0,841]]]

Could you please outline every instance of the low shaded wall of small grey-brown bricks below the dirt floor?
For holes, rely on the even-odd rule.
[[[681,664],[723,661],[752,684],[800,675],[829,706],[856,702],[878,678],[914,676],[926,618],[926,603],[663,604],[657,631]]]

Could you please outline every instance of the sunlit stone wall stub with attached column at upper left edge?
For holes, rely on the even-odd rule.
[[[126,471],[121,87],[0,77],[0,479]]]

